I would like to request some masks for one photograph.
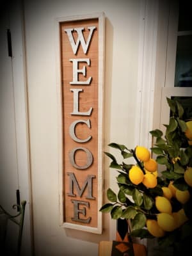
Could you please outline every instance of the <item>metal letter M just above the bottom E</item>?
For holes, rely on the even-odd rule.
[[[69,176],[69,193],[67,193],[68,196],[76,196],[74,194],[74,187],[76,187],[77,195],[82,196],[84,189],[86,189],[86,186],[88,187],[88,193],[86,198],[87,199],[95,199],[95,197],[92,195],[93,192],[93,179],[95,179],[95,175],[88,175],[86,180],[83,183],[82,188],[79,188],[79,184],[76,180],[76,176],[74,175],[73,172],[68,172],[67,175]]]

